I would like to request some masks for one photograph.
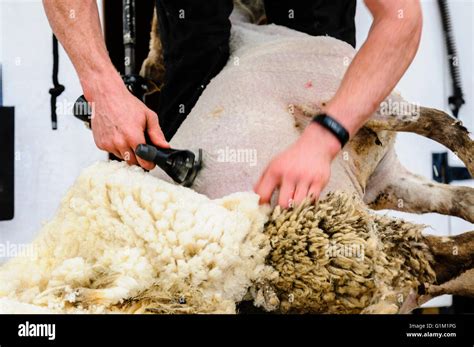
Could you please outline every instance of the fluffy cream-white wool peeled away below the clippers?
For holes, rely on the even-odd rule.
[[[220,304],[216,310],[234,312],[266,268],[267,212],[254,193],[210,200],[140,168],[100,162],[83,171],[44,226],[34,258],[0,268],[0,297],[67,311],[89,293],[98,304],[85,309],[106,312],[154,285],[197,290]],[[94,282],[104,278],[110,283]]]

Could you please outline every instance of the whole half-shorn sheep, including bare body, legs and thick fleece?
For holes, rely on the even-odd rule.
[[[424,226],[370,210],[474,221],[471,188],[415,176],[393,149],[395,131],[419,133],[474,172],[473,141],[444,112],[381,108],[335,160],[319,203],[258,205],[249,191],[261,169],[331,97],[354,51],[243,17],[233,15],[233,57],[171,144],[253,148],[257,165],[208,161],[196,191],[120,163],[86,169],[34,241],[35,257],[0,268],[0,312],[235,313],[251,300],[270,312],[395,313],[443,293],[473,295],[472,232],[425,236]],[[145,73],[160,71],[146,68],[151,58]],[[396,93],[386,101],[405,103]]]

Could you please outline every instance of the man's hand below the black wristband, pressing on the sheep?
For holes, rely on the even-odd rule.
[[[287,208],[307,196],[318,199],[331,175],[331,162],[341,149],[337,138],[311,123],[290,148],[274,158],[255,185],[261,203],[269,203],[279,188],[278,204]]]

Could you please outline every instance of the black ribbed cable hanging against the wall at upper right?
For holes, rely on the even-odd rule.
[[[458,118],[459,109],[465,103],[461,86],[461,73],[459,71],[459,57],[456,51],[453,26],[451,23],[451,15],[449,13],[448,3],[446,0],[438,0],[438,5],[441,13],[441,21],[443,23],[444,36],[446,39],[449,71],[451,73],[453,88],[453,94],[448,98],[448,103],[451,108],[451,111],[453,112],[454,117]]]

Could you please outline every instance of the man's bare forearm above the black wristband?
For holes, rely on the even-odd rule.
[[[366,1],[374,15],[369,36],[354,57],[325,112],[354,135],[390,94],[412,62],[421,35],[418,1]],[[385,7],[389,3],[387,7]]]

